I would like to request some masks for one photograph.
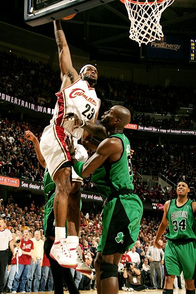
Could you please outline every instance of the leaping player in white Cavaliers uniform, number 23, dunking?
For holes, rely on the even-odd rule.
[[[100,101],[93,87],[97,82],[98,72],[93,65],[88,64],[78,74],[73,68],[70,50],[60,21],[54,21],[54,32],[58,46],[62,85],[56,94],[57,102],[53,118],[42,134],[40,149],[49,174],[56,184],[55,241],[50,256],[63,267],[76,268],[82,179],[73,174],[71,184],[71,156],[65,143],[65,137],[66,133],[73,135],[75,148],[85,161],[87,153],[84,150],[80,151],[77,140],[81,137],[85,139],[88,133],[81,127],[73,130],[74,121],[68,121],[66,115],[73,112],[83,121],[96,122]],[[68,226],[67,239],[65,239],[65,220]]]

